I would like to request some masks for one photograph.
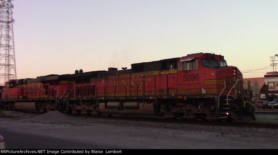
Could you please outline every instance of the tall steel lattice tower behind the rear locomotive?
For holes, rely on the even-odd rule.
[[[13,30],[13,0],[0,0],[0,85],[16,79]]]

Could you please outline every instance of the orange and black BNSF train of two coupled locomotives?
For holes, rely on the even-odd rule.
[[[247,85],[248,89],[243,89]],[[131,64],[131,69],[9,80],[5,110],[254,120],[253,91],[237,67],[212,53]]]

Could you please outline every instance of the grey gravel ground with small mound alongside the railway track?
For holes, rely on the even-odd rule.
[[[192,125],[91,117],[52,111],[43,115],[3,111],[1,127],[56,138],[82,139],[130,149],[277,149],[278,129]],[[257,120],[277,122],[276,115]],[[1,134],[1,133],[0,133]]]

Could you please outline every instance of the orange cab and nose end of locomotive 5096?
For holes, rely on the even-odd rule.
[[[243,89],[243,76],[237,67],[228,66],[222,55],[211,53],[188,54],[178,62],[177,87],[186,100],[194,100],[194,104],[215,105],[216,116],[220,119],[255,120],[251,101],[250,83],[248,90]]]

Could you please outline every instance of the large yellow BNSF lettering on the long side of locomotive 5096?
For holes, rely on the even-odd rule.
[[[142,79],[125,79],[125,80],[115,80],[113,81],[113,91],[124,91],[126,90],[143,90],[145,78]]]

